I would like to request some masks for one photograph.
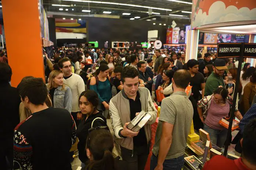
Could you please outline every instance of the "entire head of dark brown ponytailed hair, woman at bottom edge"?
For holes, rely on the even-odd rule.
[[[113,148],[114,140],[109,130],[98,129],[90,132],[86,141],[86,149],[92,153],[93,160],[87,168],[89,170],[115,170]]]

